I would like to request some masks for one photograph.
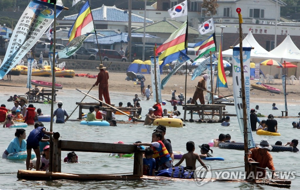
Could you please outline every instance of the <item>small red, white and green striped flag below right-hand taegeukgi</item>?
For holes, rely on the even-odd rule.
[[[198,55],[198,57],[194,59],[194,61],[201,58],[203,55],[209,53],[210,51],[211,52],[216,51],[215,33],[211,34],[206,40],[196,43],[194,49],[195,51],[197,51],[197,55]]]

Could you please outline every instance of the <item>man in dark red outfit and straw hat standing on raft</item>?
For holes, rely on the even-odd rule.
[[[110,78],[108,72],[104,69],[106,67],[103,64],[100,64],[97,69],[100,69],[98,73],[97,81],[93,85],[93,87],[99,85],[99,99],[103,101],[102,95],[104,96],[105,102],[110,105],[110,94],[108,92],[108,79]]]

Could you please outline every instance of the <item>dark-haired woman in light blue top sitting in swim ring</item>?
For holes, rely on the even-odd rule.
[[[26,131],[25,129],[16,129],[15,137],[10,141],[7,149],[2,154],[2,158],[7,158],[8,154],[20,151],[26,151]]]

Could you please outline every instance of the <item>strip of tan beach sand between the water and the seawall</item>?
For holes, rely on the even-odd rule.
[[[98,70],[93,71],[79,71],[75,70],[76,74],[85,73],[91,75],[98,75]],[[133,81],[126,81],[125,78],[126,73],[109,73],[109,91],[110,93],[117,93],[117,94],[124,94],[124,95],[132,95],[140,94],[140,85],[135,85]],[[151,75],[144,74],[146,81],[145,81],[145,88],[147,85],[150,85]],[[161,79],[164,79],[167,75],[161,75]],[[197,85],[199,79],[201,77],[197,77],[195,80],[191,81],[191,76],[187,76],[187,98],[193,97],[195,92],[195,86]],[[216,78],[216,77],[215,77]],[[32,80],[41,80],[46,82],[52,82],[52,77],[39,77],[39,76],[32,76]],[[82,91],[87,92],[90,90],[92,85],[96,82],[96,79],[91,79],[87,77],[79,77],[75,76],[75,78],[63,78],[63,77],[56,77],[56,83],[63,85],[63,89],[80,89]],[[250,83],[256,83],[258,81],[251,80]],[[7,80],[7,77],[4,76],[4,81],[0,81],[1,86],[1,95],[13,96],[13,94],[17,95],[24,95],[28,89],[26,88],[27,84],[27,75],[19,75],[19,76],[11,76],[11,81]],[[227,84],[228,88],[219,88],[220,95],[226,96],[232,94],[232,77],[227,77]],[[278,88],[283,92],[282,82],[281,79],[275,79],[274,84],[270,86],[274,88]],[[299,92],[300,92],[300,85],[299,82],[294,82],[294,85],[286,85],[286,92],[287,95],[287,102],[288,104],[298,104],[300,102],[299,99]],[[167,82],[167,85],[162,90],[162,99],[171,99],[171,90],[176,90],[176,95],[178,96],[180,93],[184,95],[184,88],[185,88],[185,75],[174,75],[170,78]],[[213,87],[215,88],[215,87]],[[92,91],[98,91],[98,87],[94,87]],[[152,91],[152,88],[151,88]],[[260,90],[252,90],[250,91],[250,102],[275,102],[276,104],[284,104],[284,96],[283,93],[275,94],[268,91],[260,91]],[[206,93],[204,93],[206,94]],[[59,92],[58,92],[59,96]],[[231,96],[232,97],[232,96]]]

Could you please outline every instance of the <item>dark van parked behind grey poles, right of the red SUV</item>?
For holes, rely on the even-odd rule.
[[[145,60],[150,60],[150,57],[154,55],[154,46],[145,45]],[[128,57],[128,46],[126,48],[126,57]],[[143,45],[142,44],[132,44],[131,45],[131,61],[136,59],[143,60]]]

